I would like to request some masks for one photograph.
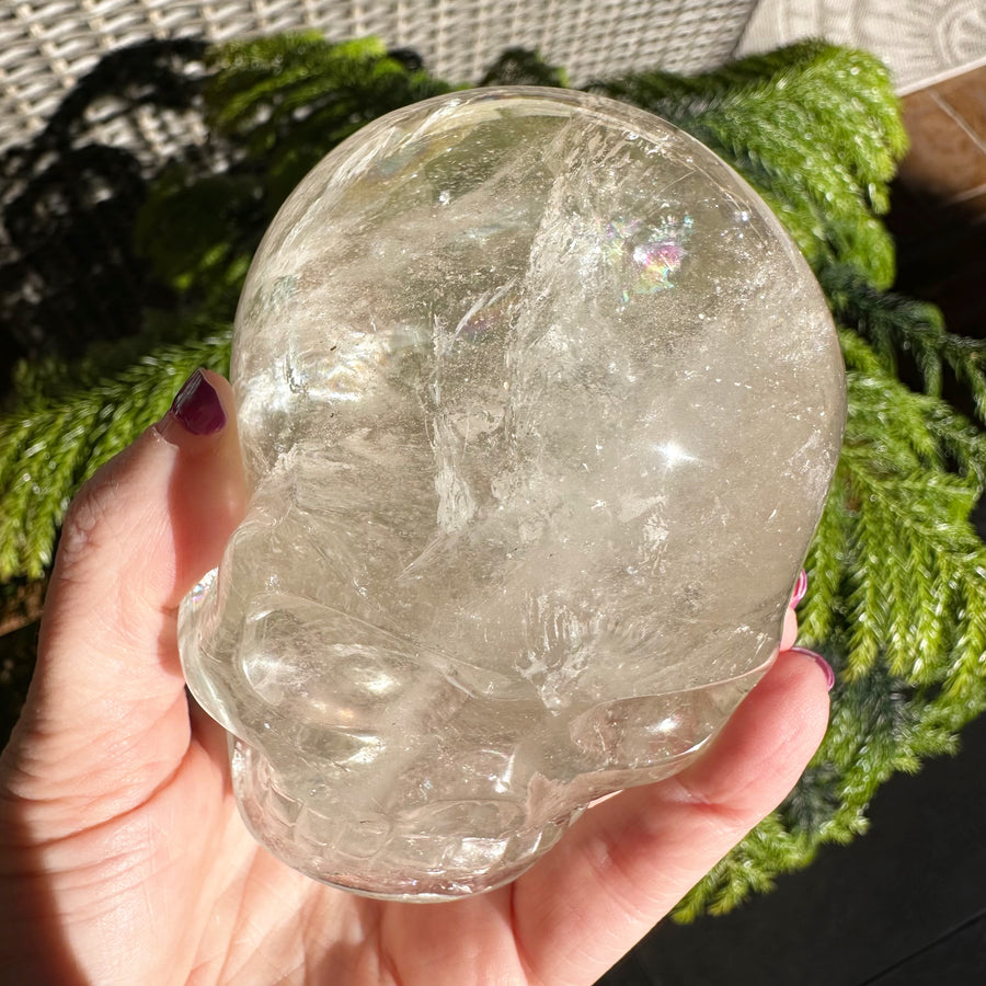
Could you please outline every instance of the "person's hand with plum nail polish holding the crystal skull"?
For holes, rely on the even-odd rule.
[[[220,726],[187,698],[177,604],[244,508],[229,385],[175,408],[66,518],[38,662],[0,758],[0,967],[31,984],[591,984],[788,793],[826,679],[782,651],[711,748],[589,809],[514,883],[371,901],[246,833]],[[197,385],[197,386],[196,386]]]

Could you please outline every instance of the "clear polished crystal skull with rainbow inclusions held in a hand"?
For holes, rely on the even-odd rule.
[[[264,846],[420,901],[702,749],[777,651],[845,420],[824,298],[742,179],[534,88],[316,167],[231,376],[252,497],[182,605],[188,686]]]

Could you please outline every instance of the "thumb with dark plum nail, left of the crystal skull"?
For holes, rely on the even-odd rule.
[[[244,498],[231,388],[196,370],[168,414],[69,507],[37,667],[7,750],[22,777],[65,790],[67,771],[87,784],[96,772],[108,784],[128,781],[138,763],[147,772],[148,758],[163,769],[181,755],[188,710],[176,608],[218,564]]]

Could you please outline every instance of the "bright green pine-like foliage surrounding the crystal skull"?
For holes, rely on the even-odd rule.
[[[81,364],[21,367],[0,416],[2,577],[42,574],[80,482],[165,411],[195,366],[225,369],[249,257],[301,175],[368,119],[451,88],[372,39],[237,43],[211,49],[208,67],[206,123],[225,164],[163,165],[134,230],[170,307],[149,305],[144,334]],[[483,82],[564,76],[511,51]],[[986,548],[970,524],[986,477],[983,344],[886,291],[893,246],[879,217],[906,138],[872,57],[807,43],[698,78],[591,88],[672,119],[760,192],[826,291],[848,370],[846,442],[801,609],[803,641],[836,669],[832,724],[787,802],[683,902],[688,919],[862,832],[876,788],[953,749],[986,707]],[[944,381],[973,420],[943,400]]]

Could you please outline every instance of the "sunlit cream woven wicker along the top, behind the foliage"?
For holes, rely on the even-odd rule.
[[[0,148],[44,126],[101,55],[147,38],[228,41],[317,27],[379,35],[454,81],[508,47],[574,84],[633,69],[692,72],[735,49],[756,0],[0,0]]]

